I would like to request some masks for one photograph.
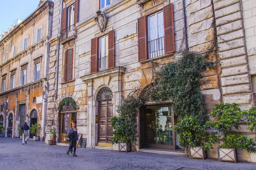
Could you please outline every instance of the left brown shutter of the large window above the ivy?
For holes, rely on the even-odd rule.
[[[146,16],[138,19],[139,61],[147,59],[147,23]]]

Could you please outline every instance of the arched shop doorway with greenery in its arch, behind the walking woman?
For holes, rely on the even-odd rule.
[[[59,142],[67,143],[67,132],[70,130],[72,123],[76,123],[76,102],[74,99],[67,97],[58,105],[58,111],[60,112],[60,127],[59,127]],[[56,132],[57,133],[57,132]]]

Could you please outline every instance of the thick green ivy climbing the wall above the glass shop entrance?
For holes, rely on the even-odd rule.
[[[207,54],[184,52],[177,62],[163,66],[156,72],[156,86],[149,99],[171,99],[174,112],[179,118],[198,116],[203,119],[204,102],[200,92],[200,79],[203,78],[203,71],[214,67],[213,62],[207,61],[208,58]]]

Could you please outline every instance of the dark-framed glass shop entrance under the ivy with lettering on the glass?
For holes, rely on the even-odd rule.
[[[140,107],[140,148],[176,150],[172,104]]]

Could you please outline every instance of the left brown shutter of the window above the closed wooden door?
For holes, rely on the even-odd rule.
[[[96,73],[97,69],[98,69],[98,55],[97,55],[97,51],[98,51],[98,39],[93,38],[91,40],[91,74],[92,73]]]

